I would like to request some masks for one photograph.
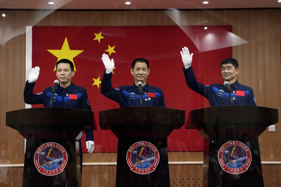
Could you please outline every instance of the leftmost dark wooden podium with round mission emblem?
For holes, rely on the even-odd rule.
[[[22,186],[81,186],[79,139],[94,121],[92,111],[76,108],[6,112],[6,126],[27,140]]]

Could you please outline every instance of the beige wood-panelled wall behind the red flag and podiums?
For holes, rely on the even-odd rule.
[[[0,46],[0,146],[1,149],[8,150],[8,160],[11,164],[23,164],[24,160],[23,138],[18,132],[5,126],[5,112],[25,108],[23,89],[25,82],[25,26],[27,25],[232,25],[233,33],[248,41],[246,44],[233,46],[233,58],[238,60],[240,67],[239,83],[253,88],[258,106],[281,109],[280,9],[181,11],[181,19],[176,22],[169,18],[164,11],[4,10],[1,12],[6,13],[7,16],[0,17],[0,44],[2,44]],[[280,114],[279,119],[281,119]],[[19,141],[17,143],[17,140],[20,140],[20,143]],[[259,137],[262,161],[281,161],[280,140],[279,123],[276,124],[275,132],[269,132],[267,129]],[[7,148],[4,147],[4,142],[8,144]],[[192,157],[194,157],[194,161],[203,161],[201,155],[202,153],[186,153],[184,158],[186,158],[185,161],[191,161]],[[169,157],[169,161],[179,161],[177,153],[172,153]],[[84,162],[108,162],[104,158],[106,158],[104,155],[100,157],[98,153],[90,156],[84,155]],[[116,156],[110,155],[110,160],[116,162],[114,161]],[[3,158],[1,158],[0,164],[5,164]],[[91,181],[99,183],[105,180],[104,177],[107,178],[111,174],[114,176],[107,183],[115,183],[115,166],[88,166],[84,168],[82,176],[84,186],[87,186],[86,183],[89,184],[89,178]],[[188,171],[192,168],[200,179],[202,176],[200,171],[203,170],[203,166],[197,165],[170,167],[171,179],[172,177],[182,177],[177,175],[183,175],[186,178],[186,175],[190,174]],[[181,172],[176,174],[175,171]],[[281,186],[280,165],[263,165],[263,171],[266,186]],[[190,174],[190,177],[194,174]],[[1,175],[3,176],[3,174]],[[11,180],[17,181],[16,186],[20,186],[21,176],[21,168],[10,168],[6,181],[8,183]]]

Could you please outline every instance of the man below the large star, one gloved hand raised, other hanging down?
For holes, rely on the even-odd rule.
[[[32,68],[28,80],[24,88],[24,102],[30,105],[43,104],[44,107],[50,107],[50,99],[52,96],[52,86],[47,87],[44,91],[33,94],[35,81],[38,79],[40,68]],[[59,85],[53,97],[53,107],[79,108],[91,110],[87,91],[81,86],[76,86],[71,82],[71,77],[74,76],[74,65],[68,59],[61,59],[56,63],[56,76],[59,80]],[[86,147],[88,153],[92,153],[95,148],[93,131],[86,130]],[[82,146],[79,141],[80,150],[80,168],[82,173]]]

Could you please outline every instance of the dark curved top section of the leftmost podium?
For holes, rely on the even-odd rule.
[[[85,125],[86,129],[96,129],[93,111],[77,108],[41,107],[6,112],[6,125]]]

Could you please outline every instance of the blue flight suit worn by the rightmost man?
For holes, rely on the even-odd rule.
[[[183,68],[187,86],[209,100],[211,106],[231,105],[231,98],[222,84],[204,85],[198,83],[192,67]],[[253,89],[239,84],[236,80],[230,85],[233,105],[256,106]]]

